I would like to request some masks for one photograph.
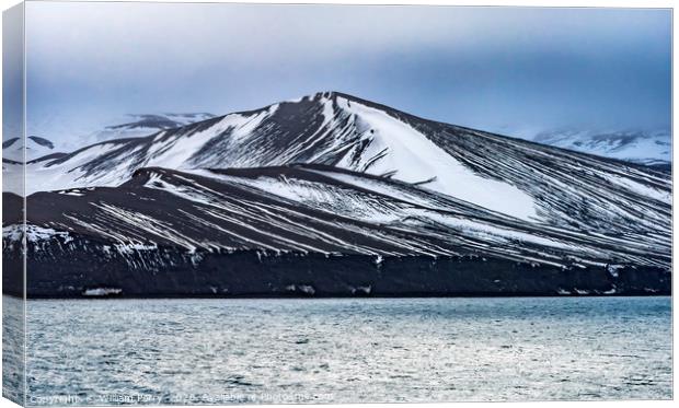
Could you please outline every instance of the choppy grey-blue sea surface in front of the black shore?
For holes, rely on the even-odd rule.
[[[49,300],[26,322],[30,405],[672,396],[670,298]]]

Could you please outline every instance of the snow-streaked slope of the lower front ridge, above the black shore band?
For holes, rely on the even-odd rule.
[[[68,247],[89,236],[119,252],[482,254],[563,267],[669,261],[661,237],[642,243],[643,234],[526,223],[407,183],[322,165],[200,175],[145,168],[117,188],[38,193],[28,206],[36,245],[58,237]]]

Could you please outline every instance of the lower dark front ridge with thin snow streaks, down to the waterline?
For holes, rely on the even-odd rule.
[[[429,201],[417,206],[412,199],[376,194],[338,182],[333,178],[336,172]],[[396,180],[320,165],[212,173],[230,178],[148,168],[116,188],[30,196],[28,295],[80,296],[96,289],[115,289],[126,296],[670,292],[670,258],[661,250],[549,228],[539,231]],[[296,201],[248,184],[263,178],[289,186],[299,182],[303,188],[312,183],[313,188],[336,197],[325,202]],[[177,195],[182,189],[184,194]],[[334,212],[325,207],[341,206],[342,200],[352,205]],[[21,198],[4,194],[4,219],[20,222]],[[504,229],[509,238],[500,234],[497,241],[480,240],[475,230],[433,224],[426,215],[375,223],[342,213],[355,211],[358,202],[398,214],[436,203],[439,217]],[[68,233],[45,238],[45,231],[53,229]],[[552,240],[554,246],[511,240],[517,232]],[[20,252],[15,242],[4,241],[3,260],[9,265]],[[561,242],[578,246],[562,248]],[[5,291],[19,293],[21,287],[13,284],[12,277],[15,273],[5,275]]]

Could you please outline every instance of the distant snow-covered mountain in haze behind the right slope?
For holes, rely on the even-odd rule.
[[[671,135],[667,130],[582,130],[557,129],[539,132],[538,143],[630,162],[670,167]]]

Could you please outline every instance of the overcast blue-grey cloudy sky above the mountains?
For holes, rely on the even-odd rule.
[[[28,2],[26,25],[51,138],[325,90],[494,131],[670,125],[668,10]]]

